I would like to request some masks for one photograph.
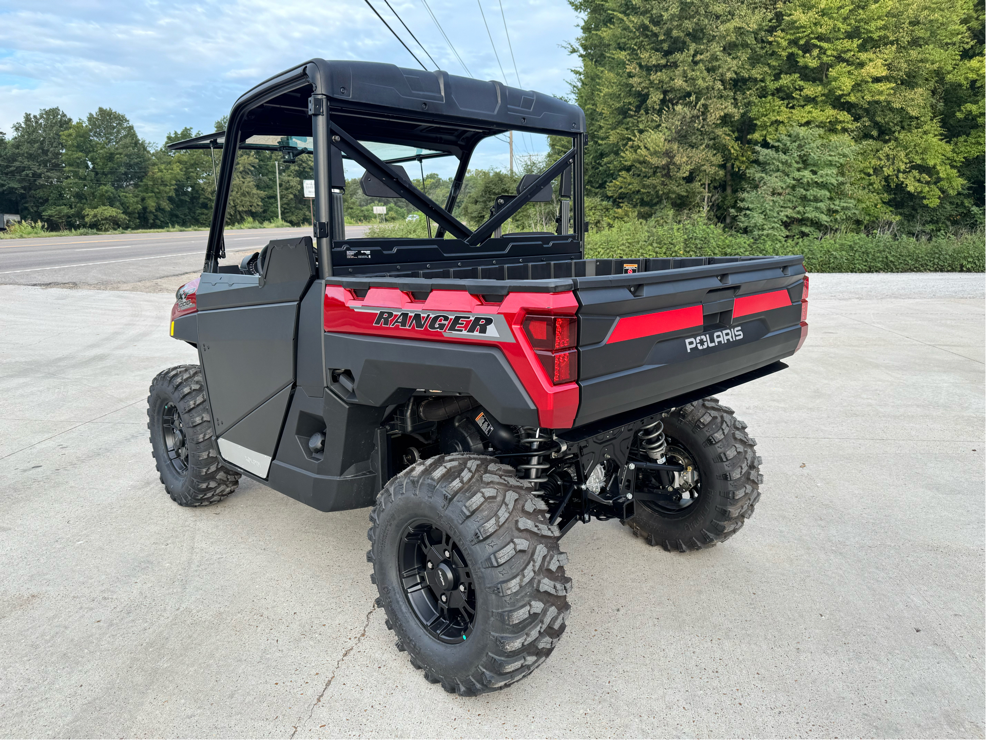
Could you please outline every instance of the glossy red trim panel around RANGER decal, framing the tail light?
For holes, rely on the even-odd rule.
[[[370,288],[366,296],[356,294],[338,285],[325,286],[324,329],[326,332],[370,334],[402,339],[446,341],[466,344],[496,344],[503,351],[518,379],[527,390],[530,400],[537,407],[541,426],[550,429],[567,429],[575,420],[579,408],[577,383],[552,385],[540,360],[530,346],[523,330],[524,318],[531,314],[575,316],[579,303],[575,295],[566,293],[512,292],[503,303],[486,303],[464,290],[433,290],[427,300],[415,300],[410,294],[397,288]],[[374,326],[378,313],[372,309],[396,309],[385,324]],[[458,316],[463,317],[458,326],[469,326],[472,314],[499,315],[506,321],[510,337],[484,337],[479,333],[448,336],[440,330],[407,326],[401,312],[421,315],[444,315],[450,326]],[[466,319],[468,318],[468,320]],[[403,324],[400,322],[403,321]],[[432,325],[434,326],[434,325]],[[512,341],[510,339],[513,339]]]

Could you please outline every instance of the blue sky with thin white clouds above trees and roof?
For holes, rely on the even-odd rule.
[[[385,0],[371,2],[432,68]],[[389,2],[442,69],[464,75],[464,64],[472,77],[514,86],[519,73],[525,88],[569,94],[577,59],[564,45],[579,17],[565,0],[502,0],[514,58],[501,0]],[[0,0],[0,29],[0,130],[8,135],[27,111],[58,106],[80,117],[103,106],[160,144],[184,126],[211,131],[246,89],[308,58],[417,66],[365,0]],[[545,149],[541,137],[515,137],[515,154]],[[437,163],[430,169],[446,169]],[[485,146],[474,164],[505,167],[506,145]]]

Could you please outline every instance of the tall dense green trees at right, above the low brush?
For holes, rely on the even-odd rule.
[[[827,212],[789,238],[895,221],[929,236],[981,226],[981,2],[570,2],[585,14],[573,51],[592,194],[641,217],[671,207],[729,226],[742,193],[764,182],[761,149],[810,129],[852,157],[843,185],[822,186]],[[855,213],[833,198],[855,200]],[[744,203],[771,224],[804,221],[766,215],[784,204]]]

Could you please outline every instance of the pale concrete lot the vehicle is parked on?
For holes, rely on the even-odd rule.
[[[983,275],[812,275],[734,389],[763,497],[723,546],[562,541],[569,627],[478,699],[393,646],[367,510],[176,506],[147,386],[172,298],[0,286],[2,737],[983,737]]]

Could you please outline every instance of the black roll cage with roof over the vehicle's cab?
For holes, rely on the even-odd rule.
[[[498,200],[502,206],[491,208],[490,218],[472,230],[453,216],[469,160],[483,139],[510,130],[567,136],[572,140],[572,147],[536,178],[526,179],[526,186],[516,196]],[[225,131],[178,141],[170,144],[169,149],[215,150],[236,141],[237,149],[279,150],[288,158],[311,152],[316,186],[317,269],[318,277],[325,278],[334,273],[333,261],[337,262],[352,246],[342,244],[347,241],[342,213],[341,188],[345,187],[342,158],[356,162],[439,225],[435,240],[387,240],[406,243],[398,247],[405,246],[424,256],[422,263],[425,258],[441,261],[438,258],[453,256],[452,259],[481,260],[511,250],[516,253],[516,240],[501,239],[499,227],[545,185],[559,177],[564,183],[570,177],[571,233],[566,218],[564,226],[559,228],[562,236],[530,234],[525,239],[530,247],[533,246],[530,242],[540,240],[545,247],[550,245],[554,253],[581,259],[586,220],[585,132],[585,115],[577,106],[496,81],[483,82],[443,71],[404,69],[376,62],[312,59],[249,90],[234,104]],[[368,142],[413,147],[419,153],[384,159],[368,147]],[[441,156],[458,159],[444,206],[392,167],[399,162]],[[225,257],[223,228],[235,160],[236,157],[222,158],[204,272],[218,271],[218,260]],[[445,240],[446,233],[454,239]],[[436,240],[442,241],[436,243]],[[397,254],[396,249],[391,245],[389,251]]]

